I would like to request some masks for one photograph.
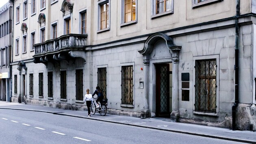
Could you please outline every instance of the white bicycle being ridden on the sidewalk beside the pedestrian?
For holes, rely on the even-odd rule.
[[[100,113],[100,115],[105,116],[106,115],[106,111],[107,111],[107,104],[108,103],[108,99],[103,99],[102,100],[102,104],[99,104],[100,107],[96,108],[96,100],[93,97],[93,102],[91,103],[90,109],[91,109],[91,114],[94,115],[96,112],[96,109],[98,110],[98,112]]]

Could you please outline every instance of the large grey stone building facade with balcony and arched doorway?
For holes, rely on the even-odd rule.
[[[253,0],[13,2],[13,102],[256,130]]]

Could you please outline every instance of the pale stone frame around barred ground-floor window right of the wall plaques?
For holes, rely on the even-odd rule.
[[[207,55],[207,56],[196,56],[193,57],[193,85],[195,84],[195,61],[202,59],[216,59],[216,113],[209,112],[198,112],[195,110],[195,87],[193,87],[193,114],[197,115],[208,115],[208,116],[219,116],[219,55]]]

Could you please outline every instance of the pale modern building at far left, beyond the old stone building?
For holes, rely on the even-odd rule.
[[[13,6],[9,2],[0,8],[0,100],[10,102],[11,40]]]

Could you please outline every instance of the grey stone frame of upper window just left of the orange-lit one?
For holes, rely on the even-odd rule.
[[[104,5],[104,4],[107,4],[108,3],[108,27],[107,28],[104,28],[104,29],[101,29],[101,7],[102,7],[102,5]],[[110,30],[110,23],[111,23],[111,19],[110,19],[110,17],[111,17],[111,13],[110,13],[110,11],[111,11],[111,0],[100,0],[100,1],[98,1],[98,31],[97,31],[97,33],[100,33],[100,32],[105,32],[105,31],[109,31]],[[107,19],[106,19],[106,21],[107,21]]]

